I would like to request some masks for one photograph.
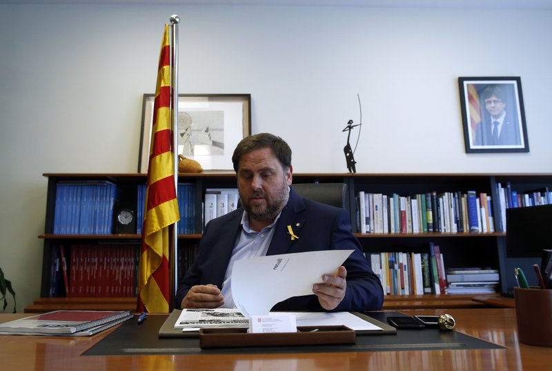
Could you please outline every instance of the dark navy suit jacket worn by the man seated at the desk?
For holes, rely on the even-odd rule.
[[[243,212],[244,209],[239,208],[206,225],[197,259],[179,285],[175,298],[177,307],[193,285],[212,283],[221,288],[237,235],[241,231]],[[291,241],[288,225],[293,225],[293,231],[299,239]],[[355,250],[344,263],[347,290],[335,311],[378,310],[382,307],[384,294],[380,279],[371,270],[361,252],[362,246],[351,232],[351,221],[346,210],[304,199],[292,188],[288,203],[274,228],[267,255],[313,250]],[[322,281],[322,277],[320,279]],[[282,301],[273,310],[322,311],[323,308],[312,294]]]

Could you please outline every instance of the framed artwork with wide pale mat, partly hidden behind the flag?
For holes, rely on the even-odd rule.
[[[155,94],[144,94],[138,172],[148,172]],[[179,94],[178,154],[204,170],[233,170],[237,143],[251,132],[250,94]]]

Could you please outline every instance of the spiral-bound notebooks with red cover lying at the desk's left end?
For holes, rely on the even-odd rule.
[[[105,330],[129,318],[132,318],[130,310],[55,310],[0,323],[0,334],[82,336]]]

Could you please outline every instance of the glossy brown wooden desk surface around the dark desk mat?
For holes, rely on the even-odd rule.
[[[404,310],[442,314],[445,310]],[[412,350],[344,353],[81,356],[113,329],[93,337],[0,335],[2,370],[548,370],[552,348],[520,344],[514,309],[446,310],[457,331],[506,347],[493,350]],[[28,314],[0,314],[0,322]]]

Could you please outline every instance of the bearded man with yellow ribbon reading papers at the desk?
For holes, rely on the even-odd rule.
[[[199,254],[181,281],[180,308],[233,308],[234,261],[313,250],[354,250],[335,274],[324,274],[313,294],[273,310],[363,311],[383,304],[380,280],[351,232],[348,212],[300,197],[292,188],[288,144],[273,134],[243,139],[232,157],[242,208],[210,221]]]

